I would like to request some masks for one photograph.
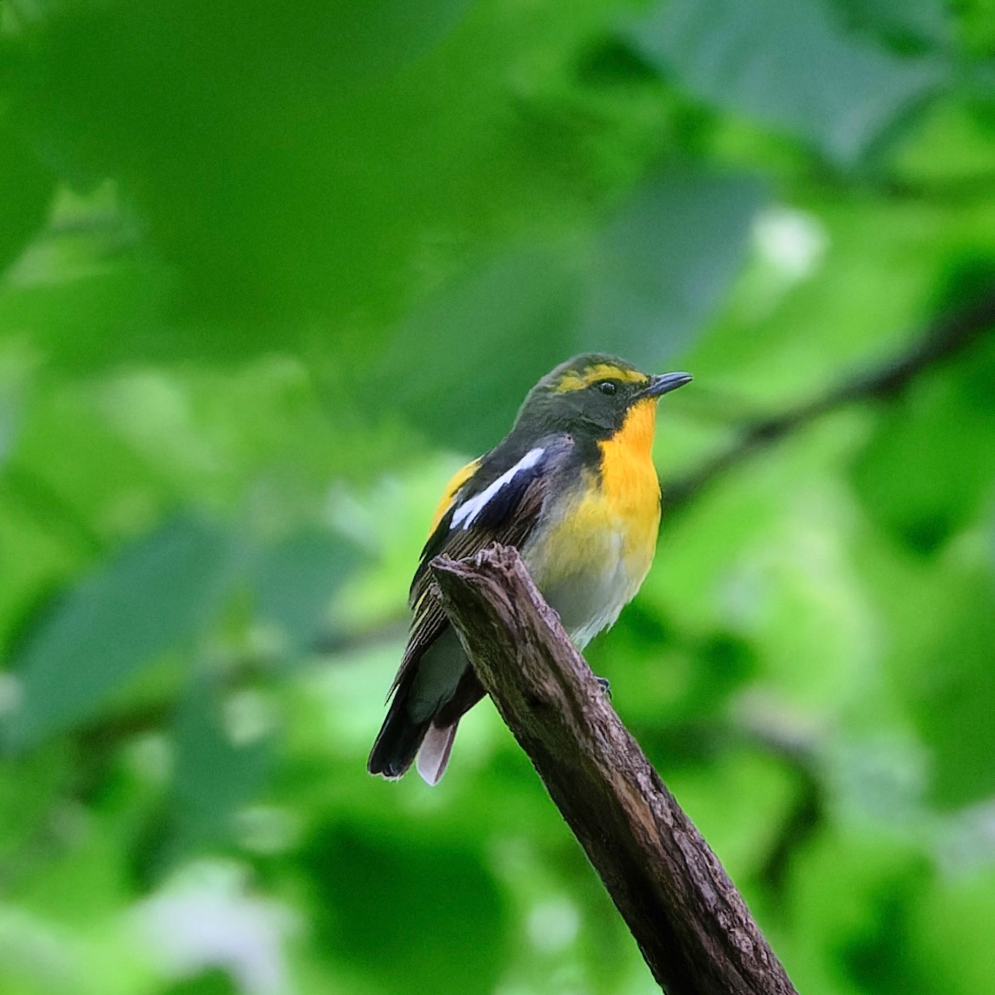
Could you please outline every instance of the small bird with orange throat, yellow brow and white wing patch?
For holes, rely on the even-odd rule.
[[[411,583],[411,628],[371,774],[396,780],[417,756],[419,774],[437,784],[461,717],[485,696],[433,590],[436,556],[514,546],[578,650],[614,624],[657,546],[657,402],[691,379],[605,353],[574,356],[532,387],[494,449],[457,471]]]

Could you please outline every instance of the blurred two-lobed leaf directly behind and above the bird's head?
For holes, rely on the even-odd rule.
[[[480,452],[539,376],[577,352],[656,369],[724,296],[762,203],[750,175],[658,173],[581,252],[519,249],[426,300],[398,332],[378,393],[446,444]]]

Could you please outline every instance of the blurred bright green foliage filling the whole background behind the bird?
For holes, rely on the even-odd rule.
[[[995,14],[0,0],[0,268],[0,992],[650,992],[488,704],[363,770],[424,530],[573,352],[680,482],[991,295]],[[589,651],[808,995],[995,987],[990,330]]]

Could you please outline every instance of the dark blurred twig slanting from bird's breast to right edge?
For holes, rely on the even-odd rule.
[[[995,328],[995,291],[937,316],[903,352],[845,377],[827,391],[777,415],[744,425],[733,442],[666,488],[667,507],[683,508],[708,485],[760,450],[849,404],[896,397],[924,371],[951,359]]]

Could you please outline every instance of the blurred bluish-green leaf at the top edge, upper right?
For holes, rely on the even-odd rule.
[[[700,100],[753,117],[854,166],[931,96],[944,68],[848,36],[816,0],[674,0],[632,31]]]

